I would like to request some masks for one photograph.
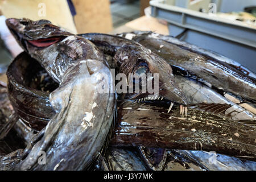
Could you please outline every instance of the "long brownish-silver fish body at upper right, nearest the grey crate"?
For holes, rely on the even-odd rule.
[[[238,96],[256,100],[256,80],[247,76],[227,63],[217,60],[218,57],[208,57],[195,53],[189,48],[177,45],[154,34],[141,34],[131,39],[151,49],[165,59],[173,69],[187,76],[193,76],[202,82],[208,82],[218,89],[234,93]]]

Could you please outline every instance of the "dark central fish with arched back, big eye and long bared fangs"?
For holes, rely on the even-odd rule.
[[[112,65],[118,68],[119,73],[125,73],[127,77],[130,73],[137,73],[138,75],[141,73],[157,73],[159,75],[159,93],[153,95],[148,93],[131,94],[129,98],[139,102],[164,98],[171,102],[168,111],[174,105],[173,102],[180,104],[182,114],[184,110],[187,110],[187,107],[183,105],[187,106],[189,103],[174,81],[172,68],[150,49],[133,40],[114,35],[91,33],[81,34],[80,36],[96,44],[106,55],[113,56],[114,64]]]

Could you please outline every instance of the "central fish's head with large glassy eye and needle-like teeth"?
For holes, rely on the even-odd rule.
[[[175,102],[180,105],[188,105],[188,100],[185,94],[176,85],[174,80],[174,75],[172,73],[171,66],[162,58],[155,55],[150,51],[150,49],[144,47],[135,47],[133,45],[129,46],[131,51],[126,51],[124,49],[123,53],[117,53],[117,55],[122,55],[119,63],[119,69],[121,73],[129,75],[133,73],[137,75],[146,75],[146,81],[143,79],[133,79],[133,86],[139,84],[141,89],[139,93],[128,94],[127,98],[136,98],[136,100],[166,100],[169,102]],[[129,77],[129,86],[131,79]],[[146,83],[147,82],[147,83]],[[151,92],[148,92],[150,86],[148,84],[151,82]],[[146,93],[143,93],[142,85],[146,86]],[[153,91],[153,93],[152,93]]]

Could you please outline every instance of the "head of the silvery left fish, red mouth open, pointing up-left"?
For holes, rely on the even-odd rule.
[[[9,18],[6,24],[24,51],[36,59],[56,82],[60,82],[68,63],[79,57],[78,48],[66,41],[74,42],[75,36],[48,20]]]

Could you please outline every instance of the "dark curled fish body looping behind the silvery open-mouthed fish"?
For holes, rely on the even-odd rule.
[[[41,75],[42,72],[44,75]],[[27,123],[28,127],[36,131],[42,130],[56,114],[49,102],[48,92],[52,92],[59,85],[51,79],[38,61],[32,59],[26,52],[15,57],[9,65],[6,75],[8,96],[15,113],[24,123]],[[41,82],[40,80],[44,81],[42,76],[46,76],[45,82],[51,86],[42,86],[37,89],[34,85]],[[48,92],[42,92],[43,88],[46,88]]]

